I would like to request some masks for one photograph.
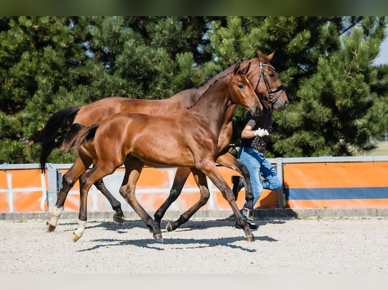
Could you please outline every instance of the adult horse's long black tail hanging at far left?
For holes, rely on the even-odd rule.
[[[80,109],[79,106],[64,108],[53,114],[47,121],[42,131],[42,150],[39,162],[42,173],[46,171],[46,162],[50,153],[62,143],[61,132],[66,132],[70,128],[75,115]]]

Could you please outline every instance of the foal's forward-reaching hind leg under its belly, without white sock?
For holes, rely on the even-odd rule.
[[[153,233],[153,238],[158,241],[163,241],[162,231],[160,230],[158,224],[144,210],[144,208],[139,204],[136,199],[136,183],[140,177],[140,173],[143,167],[144,162],[137,158],[126,159],[126,176],[124,178],[122,186],[120,187],[120,194],[135,210],[139,217],[144,221],[148,229]]]

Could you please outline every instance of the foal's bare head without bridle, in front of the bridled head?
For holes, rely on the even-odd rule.
[[[232,73],[231,86],[234,93],[231,94],[231,101],[243,106],[253,116],[258,116],[263,112],[263,106],[260,100],[257,99],[252,83],[246,76],[251,67],[251,63],[242,69],[240,67],[241,62],[236,64],[234,72]]]

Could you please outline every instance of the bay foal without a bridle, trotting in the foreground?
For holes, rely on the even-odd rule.
[[[164,115],[120,112],[100,124],[88,127],[73,124],[63,148],[75,147],[82,160],[93,161],[93,168],[80,177],[80,213],[73,241],[85,231],[89,188],[112,174],[126,160],[130,162],[126,162],[127,172],[120,194],[145,222],[155,239],[163,241],[160,227],[138,203],[135,195],[136,182],[145,163],[190,168],[201,189],[201,199],[192,207],[193,212],[209,199],[208,176],[229,203],[245,232],[245,240],[254,241],[231,188],[215,164],[219,153],[218,136],[228,107],[239,104],[254,116],[262,113],[262,104],[246,77],[249,67],[250,64],[241,69],[241,63],[238,63],[232,73],[215,80],[195,105],[184,110]]]

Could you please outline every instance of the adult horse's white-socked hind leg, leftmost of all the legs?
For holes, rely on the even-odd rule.
[[[46,228],[48,231],[55,230],[59,217],[62,213],[62,207],[65,204],[65,200],[70,188],[73,187],[74,183],[78,180],[81,174],[85,173],[91,164],[91,159],[82,161],[80,157],[77,157],[74,164],[63,175],[62,185],[59,190],[57,202],[51,212],[51,220],[46,222]]]

